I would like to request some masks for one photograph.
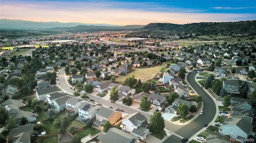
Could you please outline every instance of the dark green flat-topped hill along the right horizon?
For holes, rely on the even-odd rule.
[[[192,24],[150,23],[141,31],[170,31],[177,33],[252,33],[256,34],[256,20],[240,22],[201,22]]]

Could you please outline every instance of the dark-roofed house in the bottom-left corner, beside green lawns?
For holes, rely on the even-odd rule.
[[[34,131],[34,123],[21,125],[17,128],[10,129],[10,133],[8,135],[8,140],[11,141],[14,137],[20,135],[21,133],[28,133],[29,137],[32,137]],[[25,134],[26,135],[26,134]]]

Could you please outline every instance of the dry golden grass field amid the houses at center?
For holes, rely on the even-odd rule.
[[[138,80],[140,78],[141,82],[145,82],[147,80],[150,80],[156,76],[156,74],[161,74],[161,69],[163,67],[166,67],[167,64],[173,65],[171,61],[164,62],[162,65],[158,67],[150,67],[150,68],[132,68],[132,70],[135,70],[132,73],[126,74],[126,76],[121,76],[116,78],[116,82],[123,83],[126,78],[134,77]]]

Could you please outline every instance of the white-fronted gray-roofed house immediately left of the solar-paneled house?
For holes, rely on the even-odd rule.
[[[85,102],[85,100],[76,97],[69,98],[68,100],[66,100],[65,111],[76,114],[78,113],[78,107]]]

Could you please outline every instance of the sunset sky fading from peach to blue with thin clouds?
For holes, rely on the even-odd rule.
[[[256,0],[1,0],[0,18],[147,25],[256,20]]]

